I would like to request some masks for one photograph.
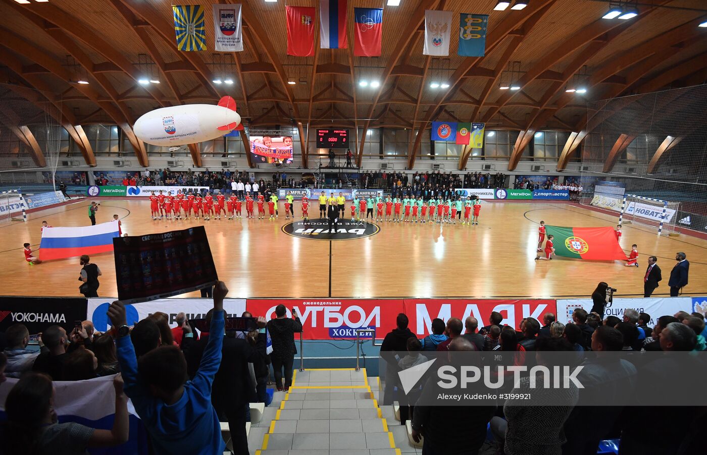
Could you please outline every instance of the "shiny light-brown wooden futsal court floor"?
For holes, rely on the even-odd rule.
[[[78,258],[29,266],[23,242],[39,247],[42,220],[55,227],[90,224],[88,203],[76,201],[30,213],[27,223],[0,227],[4,264],[0,294],[80,296]],[[379,223],[376,235],[334,242],[286,235],[281,231],[288,223],[282,205],[280,218],[274,221],[169,222],[152,220],[146,200],[101,203],[98,223],[117,214],[129,235],[206,225],[218,276],[226,281],[229,297],[585,297],[602,280],[619,295],[643,296],[649,255],[658,256],[663,275],[654,296],[668,295],[667,280],[679,251],[691,262],[686,295],[707,295],[707,240],[685,235],[659,238],[641,225],[624,226],[621,237],[626,252],[638,244],[639,267],[619,261],[534,261],[540,220],[575,227],[617,222],[615,216],[568,203],[484,203],[478,226]],[[310,214],[316,209],[312,206]],[[103,271],[98,294],[117,295],[112,253],[95,255],[91,261]]]

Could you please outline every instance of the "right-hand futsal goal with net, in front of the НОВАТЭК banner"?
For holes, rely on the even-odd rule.
[[[675,232],[679,202],[663,201],[637,194],[624,194],[619,224],[636,223],[658,230],[658,235]]]

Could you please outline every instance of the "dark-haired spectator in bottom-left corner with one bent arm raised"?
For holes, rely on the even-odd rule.
[[[2,444],[7,454],[86,454],[86,449],[114,447],[128,440],[127,397],[118,375],[112,430],[97,430],[78,423],[57,423],[54,385],[46,374],[25,374],[5,400],[7,421]]]

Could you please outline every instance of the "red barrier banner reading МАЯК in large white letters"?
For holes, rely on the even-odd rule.
[[[410,319],[410,330],[417,336],[429,335],[432,329],[432,319],[435,318],[447,321],[450,317],[456,317],[464,322],[467,317],[472,316],[479,321],[479,327],[481,327],[489,324],[491,312],[499,312],[503,316],[501,325],[519,329],[520,320],[525,317],[533,317],[542,324],[542,317],[545,313],[556,311],[555,300],[551,299],[405,299],[404,304],[405,314]]]

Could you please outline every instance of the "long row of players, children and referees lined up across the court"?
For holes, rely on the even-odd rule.
[[[339,193],[339,196],[330,196],[327,198],[324,192],[318,197],[320,216],[326,218],[327,206],[337,210],[337,218],[344,218],[346,199],[344,195]],[[258,208],[258,219],[265,218],[265,204],[268,205],[270,219],[278,218],[278,197],[276,194],[271,194],[269,199],[265,200],[265,196],[258,193],[255,199],[246,193],[245,201],[241,201],[238,196],[232,194],[228,199],[223,194],[211,196],[211,193],[206,193],[203,198],[199,194],[182,194],[178,191],[175,196],[171,194],[155,194],[152,191],[150,196],[151,215],[153,220],[162,219],[190,219],[192,213],[195,219],[204,218],[209,220],[212,216],[214,219],[220,219],[223,214],[224,218],[232,220],[233,218],[243,218],[243,203],[245,202],[246,218],[255,218],[255,205]],[[303,196],[300,200],[302,208],[302,218],[309,218],[309,199]],[[288,191],[285,196],[285,219],[289,219],[290,215],[294,218],[294,196]],[[467,199],[430,199],[423,201],[422,199],[400,199],[391,198],[388,196],[385,200],[382,196],[370,197],[368,199],[354,199],[351,201],[351,219],[358,220],[367,219],[369,216],[376,221],[392,221],[392,222],[411,222],[411,223],[426,223],[427,221],[435,221],[436,223],[456,223],[456,219],[462,220],[462,224],[479,224],[479,213],[481,211],[481,201],[479,196],[472,199],[467,196]],[[375,210],[375,216],[373,211]],[[473,215],[472,215],[473,210]],[[183,215],[182,215],[183,214]]]

